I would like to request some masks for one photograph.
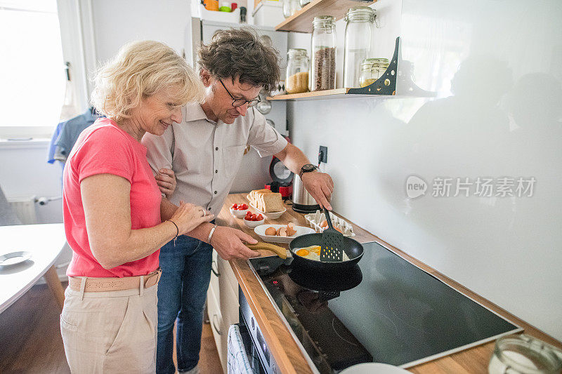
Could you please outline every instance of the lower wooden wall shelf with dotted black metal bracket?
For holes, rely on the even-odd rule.
[[[336,99],[336,98],[358,98],[367,96],[385,96],[390,97],[396,95],[396,79],[398,72],[398,58],[400,56],[400,36],[396,38],[396,46],[392,60],[388,63],[388,68],[377,81],[369,86],[362,88],[336,88],[334,90],[313,91],[306,93],[293,93],[289,95],[275,95],[269,97],[268,100],[311,100],[311,99]]]

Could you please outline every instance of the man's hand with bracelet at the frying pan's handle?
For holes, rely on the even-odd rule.
[[[239,229],[217,226],[211,237],[211,246],[215,248],[221,258],[227,261],[233,258],[243,258],[247,260],[248,258],[259,256],[259,253],[244,246],[242,241],[250,244],[258,243],[256,239]]]

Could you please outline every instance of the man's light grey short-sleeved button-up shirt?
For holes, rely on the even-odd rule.
[[[183,121],[166,128],[164,135],[146,133],[148,163],[154,173],[169,168],[176,173],[171,202],[194,203],[215,215],[221,211],[240,168],[244,149],[254,147],[261,157],[272,156],[287,140],[255,108],[228,125],[207,119],[200,104],[182,108]]]

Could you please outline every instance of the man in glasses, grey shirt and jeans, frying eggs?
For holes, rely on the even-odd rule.
[[[332,178],[316,168],[294,145],[266,123],[254,109],[259,93],[279,80],[277,53],[259,41],[251,29],[217,32],[199,50],[200,78],[206,87],[201,104],[183,107],[183,121],[169,126],[162,137],[148,134],[148,161],[155,172],[171,168],[176,192],[171,202],[189,201],[218,214],[240,168],[244,148],[261,157],[275,155],[301,175],[304,186],[328,209]],[[177,319],[177,358],[180,373],[197,373],[202,312],[211,274],[212,248],[225,260],[254,257],[242,241],[251,236],[206,222],[160,251],[162,279],[158,289],[157,373],[174,373],[173,328]]]

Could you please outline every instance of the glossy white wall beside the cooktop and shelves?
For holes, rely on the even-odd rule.
[[[417,85],[436,99],[289,102],[294,143],[311,159],[328,147],[336,211],[562,340],[562,3],[374,8],[388,22],[373,57],[390,58],[384,50],[400,34]],[[340,58],[344,28],[339,21]],[[309,43],[289,38],[289,48]],[[425,196],[407,197],[409,175],[428,182]],[[532,197],[433,197],[438,176],[537,182]]]

